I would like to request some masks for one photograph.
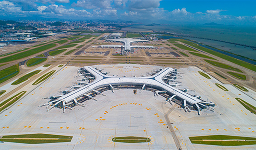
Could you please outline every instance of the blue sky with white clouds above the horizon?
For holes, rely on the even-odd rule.
[[[0,0],[0,19],[256,24],[255,0]]]

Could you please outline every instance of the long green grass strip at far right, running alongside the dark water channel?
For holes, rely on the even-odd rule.
[[[225,55],[225,54],[221,54],[221,53],[215,52],[215,51],[213,51],[213,50],[204,48],[204,47],[202,47],[202,46],[197,45],[196,43],[193,43],[193,42],[190,42],[190,41],[187,41],[187,40],[180,40],[180,41],[183,42],[183,43],[186,43],[186,44],[188,44],[188,45],[190,45],[190,46],[193,46],[193,47],[195,47],[195,48],[197,48],[197,49],[199,49],[199,50],[202,50],[202,51],[207,52],[207,53],[209,53],[209,54],[218,56],[218,57],[223,58],[223,59],[225,59],[225,60],[227,60],[227,61],[233,62],[233,63],[235,63],[235,64],[238,64],[238,65],[240,65],[240,66],[242,66],[242,67],[245,67],[245,68],[247,68],[247,69],[250,69],[250,70],[256,72],[256,65],[253,65],[253,64],[251,64],[251,63],[244,62],[244,61],[242,61],[242,60],[238,60],[238,59],[236,59],[236,58],[227,56],[227,55]]]

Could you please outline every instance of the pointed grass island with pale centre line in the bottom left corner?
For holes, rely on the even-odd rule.
[[[0,141],[25,143],[25,144],[43,144],[71,142],[73,136],[53,135],[53,134],[22,134],[3,136]]]

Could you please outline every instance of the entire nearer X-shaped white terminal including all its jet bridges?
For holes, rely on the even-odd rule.
[[[101,72],[101,70],[97,70],[97,68],[92,68],[89,66],[85,66],[77,70],[78,76],[83,76],[83,80],[94,79],[91,83],[78,82],[79,85],[83,85],[82,87],[75,87],[74,91],[64,91],[65,95],[51,96],[51,100],[39,107],[46,106],[47,111],[51,110],[54,107],[62,108],[63,113],[65,112],[65,108],[72,110],[72,107],[80,105],[85,107],[82,102],[95,99],[94,97],[97,94],[102,94],[103,91],[119,90],[119,88],[134,88],[143,90],[150,90],[155,93],[154,96],[158,96],[159,94],[166,97],[167,100],[165,103],[172,101],[182,105],[183,109],[187,112],[190,110],[198,111],[198,115],[200,115],[200,111],[202,109],[208,109],[210,111],[214,111],[215,104],[212,102],[204,101],[201,96],[190,95],[186,93],[187,89],[176,89],[173,86],[169,85],[169,81],[175,81],[177,75],[177,69],[173,68],[165,68],[157,71],[156,74],[147,77],[116,77],[116,76],[107,76],[107,73]],[[105,96],[105,95],[104,95]]]

